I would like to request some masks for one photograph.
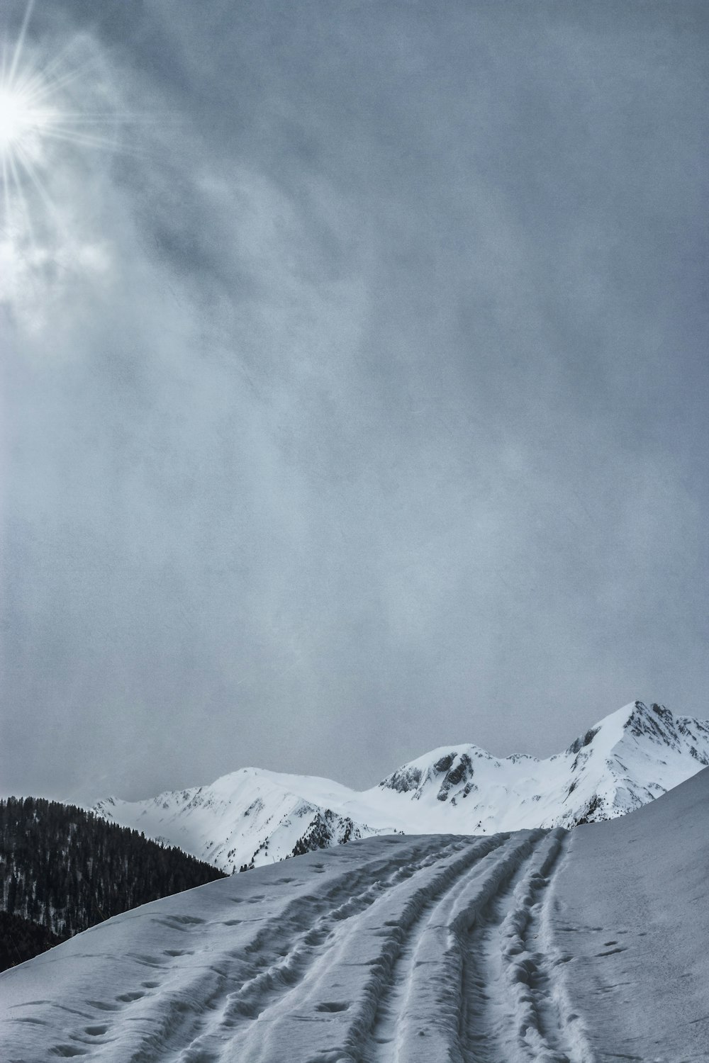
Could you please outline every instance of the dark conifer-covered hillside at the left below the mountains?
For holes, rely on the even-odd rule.
[[[0,800],[0,971],[130,908],[224,878],[181,849],[39,797]]]

